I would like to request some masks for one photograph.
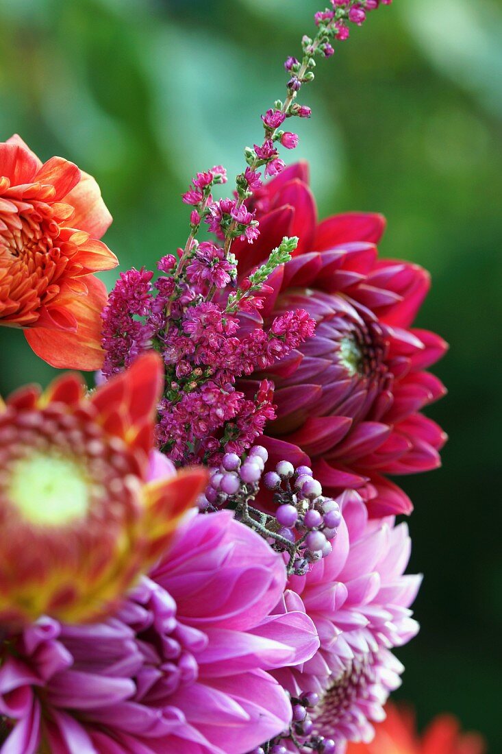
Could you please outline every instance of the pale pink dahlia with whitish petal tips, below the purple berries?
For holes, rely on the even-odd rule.
[[[301,668],[274,673],[292,697],[317,694],[298,737],[305,728],[334,742],[326,750],[337,754],[346,740],[371,740],[372,722],[384,719],[382,705],[403,672],[390,650],[418,632],[409,606],[421,583],[421,576],[403,576],[411,548],[405,523],[369,519],[357,492],[338,502],[343,520],[332,553],[307,575],[292,576],[286,592],[289,609],[305,607],[314,621],[320,648]]]

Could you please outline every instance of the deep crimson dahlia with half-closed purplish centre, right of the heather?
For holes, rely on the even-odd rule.
[[[250,206],[260,237],[253,250],[240,241],[232,247],[242,274],[283,236],[300,238],[294,259],[268,280],[273,293],[262,317],[302,308],[317,322],[314,338],[265,372],[276,385],[277,421],[263,444],[274,461],[311,466],[329,494],[360,489],[374,516],[409,513],[409,498],[382,475],[436,468],[445,443],[421,409],[445,394],[424,370],[446,344],[412,328],[429,275],[410,262],[378,258],[381,215],[318,223],[305,164],[257,190]]]

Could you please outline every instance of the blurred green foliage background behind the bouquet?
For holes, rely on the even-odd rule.
[[[316,0],[0,0],[0,135],[98,179],[130,265],[184,243],[195,170],[240,170],[259,114],[283,96]],[[396,0],[317,69],[298,155],[321,216],[378,210],[384,256],[433,274],[420,326],[451,343],[442,470],[403,480],[415,501],[418,639],[399,697],[419,720],[451,711],[502,751],[500,353],[502,2]],[[106,278],[112,285],[114,274]],[[0,329],[0,392],[52,370]]]

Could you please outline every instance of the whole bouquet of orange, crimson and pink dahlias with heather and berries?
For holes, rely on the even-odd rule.
[[[95,179],[0,144],[0,324],[96,371],[0,401],[2,754],[342,754],[384,719],[421,583],[388,477],[439,465],[446,345],[384,218],[319,222],[281,151],[383,5],[315,14],[228,196],[203,166],[184,246],[109,296]]]

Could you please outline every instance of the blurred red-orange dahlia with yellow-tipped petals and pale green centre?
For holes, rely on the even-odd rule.
[[[90,397],[75,374],[0,405],[0,624],[106,614],[155,562],[206,481],[152,450],[157,354]]]

